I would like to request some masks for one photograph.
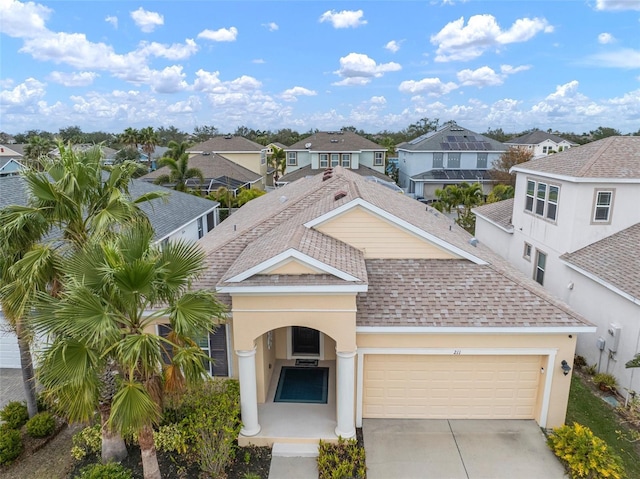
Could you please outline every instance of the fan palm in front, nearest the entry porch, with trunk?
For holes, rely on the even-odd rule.
[[[64,261],[65,291],[41,294],[37,330],[54,337],[45,350],[42,383],[74,421],[98,406],[100,375],[116,365],[108,419],[121,434],[138,436],[145,479],[160,478],[153,425],[164,390],[178,392],[205,377],[205,353],[191,339],[213,330],[224,307],[213,293],[189,291],[203,271],[197,245],[151,244],[153,231],[136,222],[113,238],[92,241]],[[149,311],[154,311],[149,314]],[[154,323],[168,322],[163,338]]]

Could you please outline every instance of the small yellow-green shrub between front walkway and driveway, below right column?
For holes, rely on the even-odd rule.
[[[320,440],[318,449],[319,479],[364,479],[364,448],[356,439],[338,438],[338,443]]]

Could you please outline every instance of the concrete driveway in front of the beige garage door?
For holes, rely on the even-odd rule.
[[[368,479],[563,479],[535,421],[365,419]]]

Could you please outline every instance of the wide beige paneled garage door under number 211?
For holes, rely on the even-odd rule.
[[[533,419],[541,360],[367,354],[363,417]]]

